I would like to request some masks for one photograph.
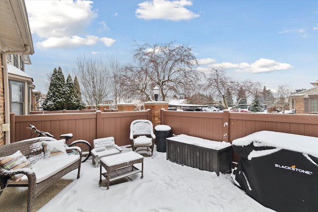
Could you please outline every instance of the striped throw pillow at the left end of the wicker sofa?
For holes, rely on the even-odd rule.
[[[21,168],[32,169],[31,163],[26,159],[26,157],[21,153],[20,150],[17,150],[15,153],[0,157],[0,165],[6,170],[16,170]],[[11,179],[14,181],[19,181],[24,174],[13,174]]]

